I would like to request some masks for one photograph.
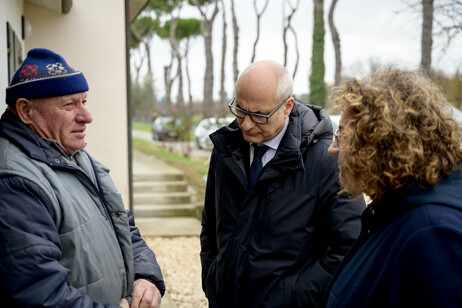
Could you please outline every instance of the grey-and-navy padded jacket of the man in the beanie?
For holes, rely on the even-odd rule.
[[[0,120],[1,307],[115,307],[145,278],[163,294],[154,253],[109,170],[68,157],[11,112]]]

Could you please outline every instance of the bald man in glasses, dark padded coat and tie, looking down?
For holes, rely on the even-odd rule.
[[[210,138],[201,233],[210,307],[316,307],[359,233],[363,199],[339,194],[327,112],[296,102],[290,73],[249,66]]]

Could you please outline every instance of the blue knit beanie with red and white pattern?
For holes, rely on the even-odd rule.
[[[31,49],[6,88],[6,103],[18,98],[41,98],[87,92],[83,73],[70,67],[63,57],[44,48]]]

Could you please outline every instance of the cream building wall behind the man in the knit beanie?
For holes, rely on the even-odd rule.
[[[125,206],[129,200],[124,0],[73,1],[68,14],[24,3],[32,26],[25,52],[42,47],[83,72],[90,90],[87,150],[109,167]]]

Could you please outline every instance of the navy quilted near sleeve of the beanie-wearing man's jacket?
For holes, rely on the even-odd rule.
[[[116,307],[95,303],[70,287],[59,263],[53,209],[38,186],[0,178],[0,294],[2,307]]]

